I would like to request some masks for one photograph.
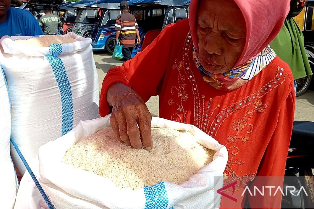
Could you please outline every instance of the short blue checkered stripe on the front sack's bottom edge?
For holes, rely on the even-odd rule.
[[[144,195],[146,198],[145,209],[168,209],[169,200],[165,182],[144,186]],[[174,209],[174,207],[169,209]]]

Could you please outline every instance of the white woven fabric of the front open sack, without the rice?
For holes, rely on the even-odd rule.
[[[135,191],[120,190],[105,177],[62,163],[64,154],[73,144],[102,128],[110,127],[109,118],[110,115],[81,121],[68,134],[41,146],[39,150],[41,184],[56,209],[219,208],[220,196],[214,195],[214,188],[221,188],[223,182],[215,177],[223,175],[228,152],[225,146],[193,125],[162,118],[153,118],[151,123],[154,128],[169,127],[189,131],[199,144],[217,151],[213,162],[181,185],[160,182]]]

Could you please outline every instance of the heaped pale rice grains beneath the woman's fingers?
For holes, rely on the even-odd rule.
[[[160,181],[181,184],[213,161],[215,152],[198,144],[191,133],[152,128],[154,148],[134,149],[105,128],[74,144],[63,162],[136,190]]]

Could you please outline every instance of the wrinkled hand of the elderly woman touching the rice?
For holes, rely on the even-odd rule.
[[[110,124],[117,140],[136,149],[151,150],[152,116],[143,99],[131,88],[115,83],[108,89],[107,100],[113,106]]]

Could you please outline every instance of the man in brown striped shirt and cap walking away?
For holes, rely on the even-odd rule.
[[[127,1],[122,1],[120,4],[121,14],[116,19],[116,42],[120,40],[123,45],[122,53],[125,60],[131,59],[133,47],[135,46],[135,37],[137,43],[140,44],[138,24],[133,14],[129,13],[129,4]],[[136,35],[136,36],[135,36]]]

